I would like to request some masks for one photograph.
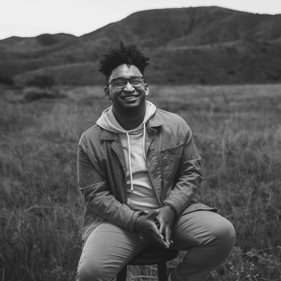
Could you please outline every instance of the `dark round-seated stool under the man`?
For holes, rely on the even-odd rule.
[[[123,269],[117,274],[116,281],[126,281],[128,265],[151,265],[157,264],[158,280],[167,281],[166,262],[178,256],[178,250],[171,250],[149,245],[139,252]]]

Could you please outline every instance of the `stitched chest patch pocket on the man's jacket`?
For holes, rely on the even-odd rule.
[[[183,153],[183,143],[160,150],[162,177],[170,181],[175,175]]]

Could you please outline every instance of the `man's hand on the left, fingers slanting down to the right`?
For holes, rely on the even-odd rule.
[[[162,208],[161,208],[162,209]],[[134,231],[141,232],[155,239],[159,244],[169,249],[169,244],[164,241],[163,235],[159,232],[155,221],[153,220],[159,214],[159,210],[145,211],[144,216],[137,217],[134,225]]]

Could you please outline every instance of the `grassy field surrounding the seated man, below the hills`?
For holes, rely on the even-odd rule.
[[[207,280],[280,280],[281,85],[149,89],[149,101],[192,129],[205,176],[195,200],[236,231]],[[100,86],[58,87],[57,98],[32,91],[0,88],[0,279],[74,280],[85,206],[77,145],[110,102]],[[156,280],[154,268],[130,267],[127,280]]]

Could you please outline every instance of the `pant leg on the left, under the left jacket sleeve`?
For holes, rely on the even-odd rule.
[[[77,267],[76,281],[110,281],[151,239],[108,221],[87,238]]]

